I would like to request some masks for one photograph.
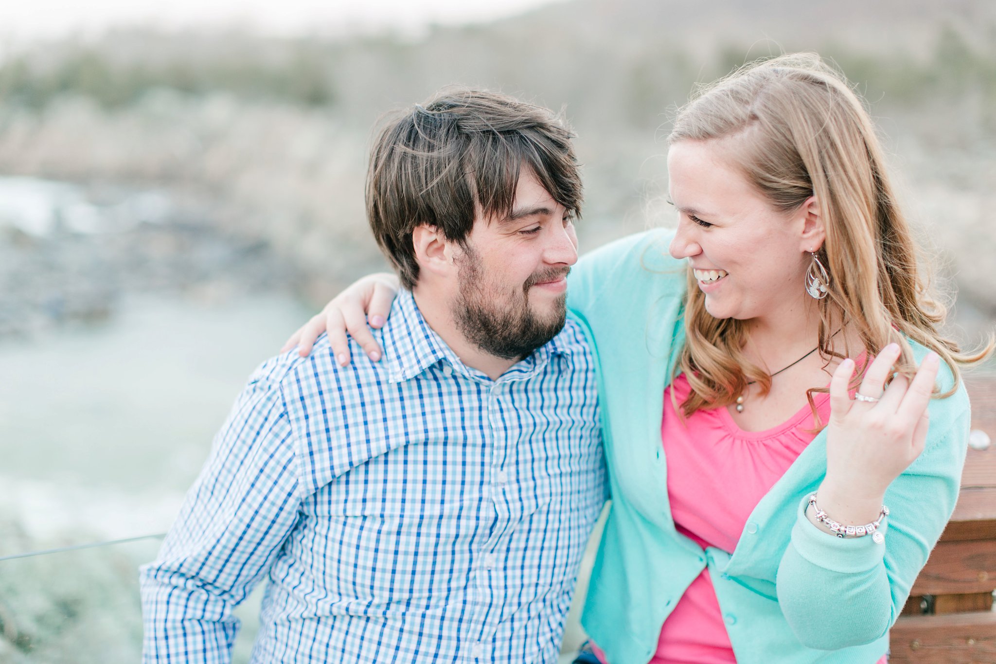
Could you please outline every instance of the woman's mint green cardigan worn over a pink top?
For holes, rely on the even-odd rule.
[[[663,391],[684,338],[686,267],[667,255],[670,237],[623,238],[570,276],[569,309],[599,362],[612,488],[582,625],[611,664],[643,664],[708,566],[738,662],[871,664],[954,510],[969,429],[964,387],[930,402],[926,448],[885,494],[884,545],[806,520],[806,497],[827,470],[822,432],[754,509],[732,555],[702,551],[674,529],[660,443]],[[952,376],[941,366],[947,389]]]

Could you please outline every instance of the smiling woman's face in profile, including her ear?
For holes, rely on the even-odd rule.
[[[678,228],[670,254],[688,259],[711,316],[777,325],[810,304],[806,252],[823,243],[819,212],[813,198],[793,212],[774,209],[728,150],[723,139],[671,145],[667,171]]]

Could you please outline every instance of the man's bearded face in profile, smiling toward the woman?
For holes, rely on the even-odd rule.
[[[453,318],[467,340],[505,359],[528,355],[564,328],[567,273],[578,260],[573,219],[523,168],[512,212],[477,219],[457,257]]]

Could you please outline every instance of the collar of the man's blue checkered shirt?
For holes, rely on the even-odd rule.
[[[564,338],[566,333],[566,330],[561,331],[528,357],[514,364],[503,378],[527,377],[549,361],[552,355],[573,352],[576,344]],[[442,337],[429,328],[418,311],[414,296],[407,289],[398,291],[381,338],[390,382],[413,378],[440,360],[448,362],[455,370],[463,373],[484,376],[480,371],[461,362]]]

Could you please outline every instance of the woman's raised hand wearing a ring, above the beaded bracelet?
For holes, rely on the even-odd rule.
[[[858,393],[880,397],[875,402],[851,399],[853,359],[841,362],[830,382],[827,477],[818,492],[818,505],[842,524],[874,521],[888,485],[919,456],[926,442],[927,404],[940,358],[928,353],[912,381],[896,376],[886,388],[899,352],[898,344],[889,343],[865,373]]]

